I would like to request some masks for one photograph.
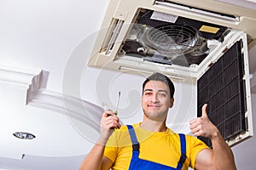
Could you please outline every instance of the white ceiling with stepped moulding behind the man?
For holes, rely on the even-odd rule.
[[[119,91],[122,122],[141,120],[139,103],[132,101],[140,99],[144,77],[85,65],[107,5],[106,0],[0,0],[0,169],[78,169],[98,135],[99,115],[86,114],[101,111],[96,105],[103,101],[115,108]],[[256,46],[249,55],[255,75]],[[183,126],[175,128],[186,132],[195,116],[186,114],[195,111],[195,85],[175,83],[179,98],[169,122],[184,116]],[[36,139],[15,139],[16,131]],[[255,169],[255,140],[232,148],[238,169]]]

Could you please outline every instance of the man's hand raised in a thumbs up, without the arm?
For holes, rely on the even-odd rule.
[[[212,139],[218,133],[218,128],[212,124],[207,116],[207,104],[203,105],[201,117],[192,119],[189,122],[191,133],[195,136],[203,136]]]

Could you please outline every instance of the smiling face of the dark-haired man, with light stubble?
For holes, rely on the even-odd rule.
[[[142,97],[144,118],[165,121],[172,105],[170,90],[164,82],[149,81],[146,83]]]

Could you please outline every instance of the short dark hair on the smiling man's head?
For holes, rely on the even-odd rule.
[[[146,83],[151,81],[151,80],[164,82],[167,85],[167,87],[169,87],[169,89],[170,89],[170,97],[171,97],[171,99],[173,98],[175,88],[174,88],[174,85],[173,85],[171,79],[169,77],[166,77],[165,75],[159,73],[159,72],[153,73],[150,77],[148,77],[143,82],[143,92],[144,92],[144,88],[145,88]]]

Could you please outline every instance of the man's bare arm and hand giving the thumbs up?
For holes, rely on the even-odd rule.
[[[201,150],[196,157],[195,169],[234,169],[235,159],[230,147],[224,141],[218,128],[207,116],[207,104],[203,105],[201,117],[191,120],[189,128],[195,136],[203,136],[212,141],[212,150]]]

